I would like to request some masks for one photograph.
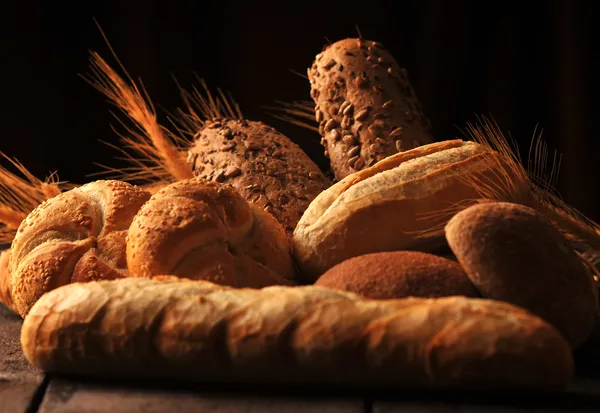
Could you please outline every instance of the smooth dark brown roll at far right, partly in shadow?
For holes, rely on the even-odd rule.
[[[554,225],[532,208],[489,202],[446,225],[454,254],[484,297],[523,307],[577,347],[598,308],[591,272]]]

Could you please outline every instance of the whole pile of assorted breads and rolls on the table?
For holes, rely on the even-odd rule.
[[[330,45],[309,78],[333,183],[273,128],[222,117],[190,143],[193,178],[99,180],[32,210],[0,256],[27,359],[204,382],[568,385],[597,286],[514,159],[432,143],[378,43]]]

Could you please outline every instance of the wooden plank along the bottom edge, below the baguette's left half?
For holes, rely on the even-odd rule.
[[[194,392],[53,379],[39,413],[365,413],[361,400]]]

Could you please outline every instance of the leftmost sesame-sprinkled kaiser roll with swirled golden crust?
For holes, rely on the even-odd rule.
[[[12,243],[12,298],[24,316],[42,294],[75,281],[127,276],[125,236],[150,194],[100,180],[36,207]]]

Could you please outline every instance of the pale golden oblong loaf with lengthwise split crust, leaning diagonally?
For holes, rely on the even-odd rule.
[[[351,257],[373,252],[432,251],[456,205],[479,194],[470,180],[494,179],[500,154],[483,145],[444,141],[398,153],[322,192],[293,236],[307,279]],[[438,236],[422,232],[440,228]]]

